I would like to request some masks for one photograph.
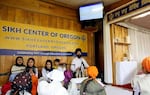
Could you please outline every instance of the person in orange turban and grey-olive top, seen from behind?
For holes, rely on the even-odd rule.
[[[98,75],[96,66],[89,66],[87,74],[88,78],[81,83],[80,95],[106,95],[104,86],[96,80]]]

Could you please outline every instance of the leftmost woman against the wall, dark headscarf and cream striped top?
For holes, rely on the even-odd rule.
[[[9,77],[9,81],[12,82],[16,75],[25,70],[25,65],[23,64],[23,57],[18,56],[16,58],[16,64],[14,64],[11,68],[11,75]]]

